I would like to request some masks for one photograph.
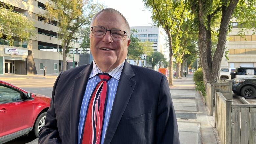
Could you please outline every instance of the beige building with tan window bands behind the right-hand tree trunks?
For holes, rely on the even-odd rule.
[[[225,58],[224,53],[221,68],[256,67],[256,35],[247,30],[246,35],[238,36],[238,23],[233,22],[232,26],[225,46],[225,51],[229,51],[229,60]]]

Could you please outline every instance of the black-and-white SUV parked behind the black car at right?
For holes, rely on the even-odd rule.
[[[256,67],[240,67],[236,68],[235,72],[230,72],[230,78],[245,78],[256,75]]]

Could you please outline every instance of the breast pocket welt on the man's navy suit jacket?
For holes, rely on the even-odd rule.
[[[152,119],[152,114],[150,113],[145,113],[142,115],[138,115],[138,116],[134,116],[134,117],[130,117],[130,118],[126,118],[123,120],[124,124],[126,125],[133,125],[133,124],[138,124],[144,121],[148,121]]]

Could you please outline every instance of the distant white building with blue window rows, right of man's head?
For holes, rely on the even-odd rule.
[[[162,52],[163,54],[165,54],[165,31],[161,27],[136,26],[131,27],[131,29],[135,29],[137,31],[137,33],[134,33],[131,36],[138,37],[140,42],[152,42],[152,49],[154,51]],[[129,63],[134,64],[134,61],[130,60]],[[139,61],[139,66],[151,67],[146,62],[146,55],[142,56],[142,59]],[[157,70],[158,68],[155,69]]]

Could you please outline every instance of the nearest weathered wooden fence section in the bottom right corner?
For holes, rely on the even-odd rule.
[[[215,127],[222,144],[256,144],[256,105],[232,104],[217,89]]]

